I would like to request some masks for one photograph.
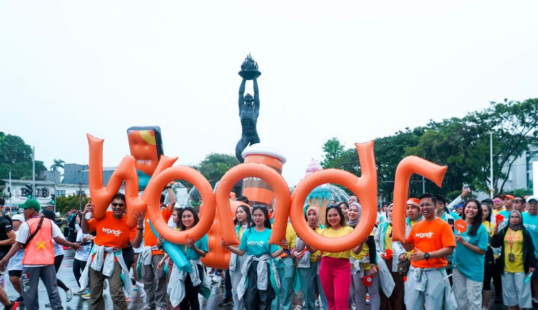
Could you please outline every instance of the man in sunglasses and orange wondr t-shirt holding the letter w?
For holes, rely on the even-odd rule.
[[[134,247],[140,246],[144,231],[144,216],[137,212],[134,217],[138,227],[130,228],[126,222],[125,195],[118,193],[112,198],[112,211],[107,211],[102,219],[88,220],[86,215],[91,212],[93,204],[88,202],[82,212],[81,228],[84,234],[95,231],[94,246],[88,258],[86,268],[80,277],[80,287],[90,288],[90,308],[104,309],[103,282],[108,278],[110,297],[115,310],[127,309],[127,302],[122,288],[129,294],[132,285],[129,271],[122,256],[122,249],[130,241]],[[125,284],[121,276],[126,279]]]

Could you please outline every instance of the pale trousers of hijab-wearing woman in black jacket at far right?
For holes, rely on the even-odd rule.
[[[505,306],[530,309],[533,307],[530,295],[530,281],[525,283],[525,272],[502,273],[502,300]]]

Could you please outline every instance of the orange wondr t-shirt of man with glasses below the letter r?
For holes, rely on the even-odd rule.
[[[413,243],[416,249],[422,252],[433,252],[447,246],[456,246],[456,240],[454,238],[454,232],[450,225],[437,218],[431,222],[422,220],[416,222],[409,232],[407,237],[409,243]],[[416,252],[413,250],[413,252]],[[416,262],[411,261],[411,264],[415,268],[441,268],[447,265],[447,259],[441,258],[429,258],[418,260]]]

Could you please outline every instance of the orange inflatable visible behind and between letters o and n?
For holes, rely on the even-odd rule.
[[[235,194],[233,195],[235,196]],[[249,205],[242,201],[230,200],[230,214],[232,217],[235,217],[237,207],[239,206],[250,208]],[[235,229],[233,231],[235,232]],[[230,251],[221,246],[222,228],[218,213],[215,216],[211,229],[209,229],[207,237],[209,253],[207,253],[206,257],[201,258],[203,265],[215,269],[228,269],[230,267]]]

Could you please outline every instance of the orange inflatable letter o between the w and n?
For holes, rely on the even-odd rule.
[[[176,231],[168,227],[161,216],[160,198],[162,189],[169,181],[181,179],[192,183],[202,195],[202,205],[200,206],[200,222],[188,231]],[[230,192],[228,192],[229,194]],[[162,171],[148,184],[146,191],[146,202],[148,217],[155,230],[159,232],[167,241],[176,244],[185,244],[187,238],[194,241],[201,239],[207,234],[213,224],[215,217],[215,195],[209,182],[204,176],[193,168],[185,166],[170,167]],[[230,212],[228,211],[228,216]],[[232,223],[233,226],[233,223]]]

